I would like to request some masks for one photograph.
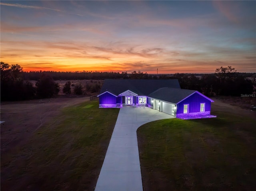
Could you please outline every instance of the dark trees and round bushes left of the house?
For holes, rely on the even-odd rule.
[[[56,96],[61,91],[59,83],[57,83],[47,73],[41,73],[40,78],[33,85],[30,81],[25,80],[23,69],[20,65],[9,65],[1,62],[1,101],[26,100],[34,98],[50,98]],[[73,91],[71,91],[71,86]],[[100,91],[99,83],[86,83],[86,90],[91,93]],[[62,89],[66,95],[83,95],[83,86],[81,83],[71,84],[66,82]]]

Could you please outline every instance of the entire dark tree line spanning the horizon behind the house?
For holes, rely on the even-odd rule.
[[[1,62],[1,101],[26,100],[33,98],[49,98],[58,95],[60,91],[64,94],[74,93],[83,95],[83,88],[91,93],[98,93],[102,83],[92,79],[178,79],[182,89],[197,90],[206,96],[240,96],[241,94],[252,94],[255,92],[256,76],[250,80],[244,75],[228,66],[217,68],[214,74],[203,74],[198,78],[194,74],[175,73],[174,75],[149,75],[141,71],[127,72],[55,72],[55,71],[30,71],[24,72],[18,64],[9,65]],[[66,80],[63,89],[56,80]],[[85,87],[81,83],[72,84],[71,80],[90,79]],[[30,81],[35,80],[33,85]],[[72,88],[71,88],[72,87]],[[73,90],[73,91],[71,91]]]

